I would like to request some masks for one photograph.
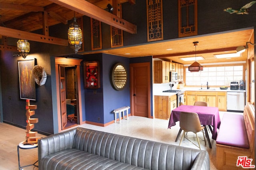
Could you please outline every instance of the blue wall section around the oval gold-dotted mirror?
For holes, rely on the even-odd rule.
[[[103,102],[104,102],[104,123],[114,120],[112,111],[119,107],[130,106],[130,70],[129,59],[114,55],[103,54]],[[114,64],[121,63],[127,72],[127,82],[123,90],[115,90],[110,83],[110,72]],[[130,113],[130,109],[129,112]],[[118,116],[117,116],[118,117]]]

